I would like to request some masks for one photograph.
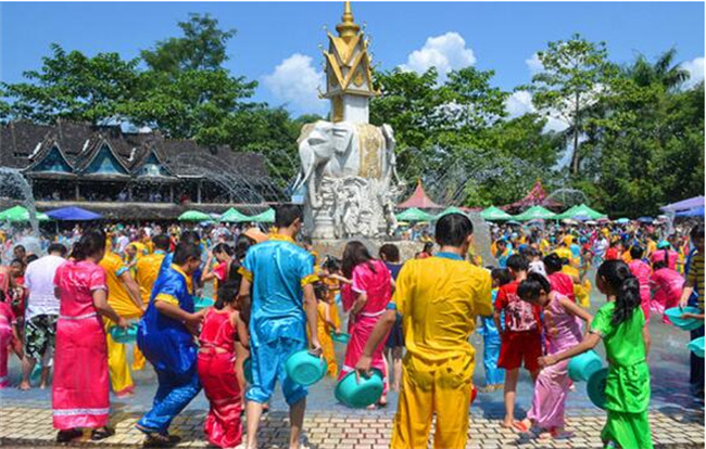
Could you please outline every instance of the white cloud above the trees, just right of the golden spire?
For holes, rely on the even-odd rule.
[[[445,35],[428,37],[424,47],[415,50],[407,56],[406,64],[401,68],[424,73],[431,67],[437,67],[439,78],[443,81],[446,74],[474,65],[476,55],[466,48],[466,40],[455,31]]]

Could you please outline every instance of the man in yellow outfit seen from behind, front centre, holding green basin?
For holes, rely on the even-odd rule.
[[[437,221],[440,252],[402,267],[393,299],[355,367],[358,374],[369,372],[375,348],[400,312],[407,354],[390,445],[394,449],[426,448],[434,414],[434,448],[466,447],[476,358],[468,337],[476,317],[492,313],[490,273],[464,260],[472,230],[461,214]]]

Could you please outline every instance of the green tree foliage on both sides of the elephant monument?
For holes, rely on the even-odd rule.
[[[280,188],[299,167],[297,138],[318,116],[291,117],[250,100],[257,84],[224,67],[236,36],[209,15],[190,15],[181,35],[141,57],[88,56],[52,44],[26,81],[0,85],[0,118],[51,124],[125,119],[164,136],[229,144],[265,156]],[[423,74],[376,70],[381,90],[370,121],[392,126],[400,174],[425,180],[442,203],[487,206],[514,202],[539,178],[547,189],[573,187],[613,215],[657,214],[658,206],[704,190],[704,85],[684,89],[689,74],[675,49],[627,66],[603,42],[579,35],[538,52],[542,70],[529,90],[538,113],[509,117],[510,92],[493,70],[464,67],[441,81]],[[547,116],[569,124],[546,130]],[[568,168],[559,158],[573,150]]]

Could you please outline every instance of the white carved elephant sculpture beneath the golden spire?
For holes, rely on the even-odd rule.
[[[298,143],[301,168],[293,190],[306,189],[305,223],[313,235],[384,233],[400,184],[392,128],[320,120],[305,125]],[[342,191],[352,188],[360,193],[343,198]]]

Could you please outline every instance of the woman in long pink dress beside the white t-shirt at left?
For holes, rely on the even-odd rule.
[[[108,428],[108,346],[101,317],[123,329],[127,329],[127,322],[108,305],[105,271],[98,265],[104,253],[105,234],[89,231],[54,274],[60,310],[52,410],[59,442],[80,437],[81,427],[93,429],[93,440],[113,433]]]

